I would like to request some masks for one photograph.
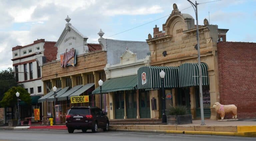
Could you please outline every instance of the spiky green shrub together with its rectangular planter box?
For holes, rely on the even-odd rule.
[[[168,125],[192,123],[192,115],[187,114],[186,106],[172,106],[167,117]]]

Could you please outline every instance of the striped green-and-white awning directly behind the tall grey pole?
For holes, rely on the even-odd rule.
[[[202,85],[209,85],[208,66],[201,63]],[[179,86],[197,86],[199,85],[199,69],[197,63],[185,63],[179,67]]]

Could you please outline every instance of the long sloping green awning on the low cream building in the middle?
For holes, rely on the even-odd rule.
[[[136,89],[137,75],[129,75],[117,78],[111,78],[103,82],[101,93],[114,92],[119,90]],[[92,94],[99,94],[100,87],[97,87]]]

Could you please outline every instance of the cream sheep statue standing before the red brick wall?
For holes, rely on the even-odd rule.
[[[234,104],[231,105],[222,105],[219,102],[215,102],[213,107],[218,114],[220,114],[221,119],[224,119],[225,114],[232,113],[232,118],[236,119],[237,116],[237,107]]]

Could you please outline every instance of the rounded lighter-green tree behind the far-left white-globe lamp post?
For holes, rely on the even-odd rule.
[[[2,107],[15,107],[17,104],[16,92],[20,93],[19,98],[27,104],[31,103],[30,94],[21,86],[12,87],[7,92],[4,93],[3,99],[0,101]]]

